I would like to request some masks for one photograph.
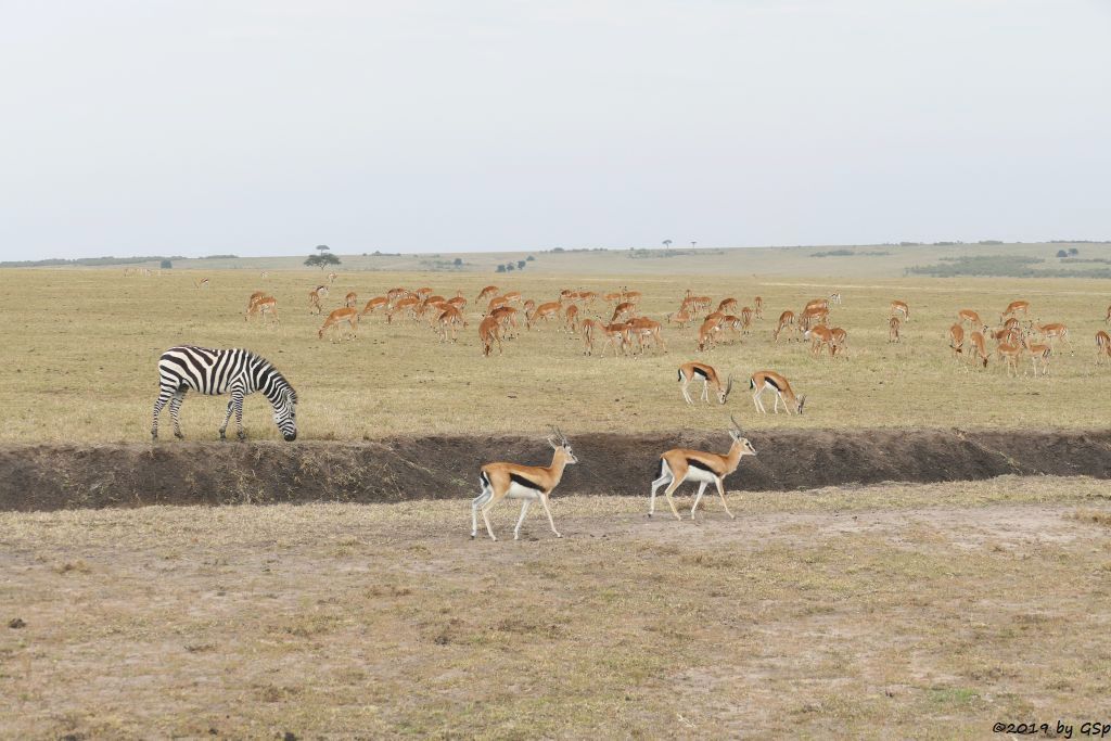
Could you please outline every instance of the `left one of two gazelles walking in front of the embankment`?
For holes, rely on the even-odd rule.
[[[548,523],[552,527],[552,532],[557,538],[562,538],[556,529],[556,520],[552,519],[552,511],[548,508],[548,497],[552,490],[559,485],[563,478],[563,469],[578,463],[579,459],[571,451],[571,443],[560,432],[559,428],[552,428],[552,434],[548,437],[548,444],[552,447],[551,465],[518,465],[517,463],[487,463],[479,472],[479,485],[482,493],[471,500],[471,538],[479,534],[479,511],[482,511],[482,521],[486,522],[487,532],[490,540],[498,540],[490,527],[490,510],[502,499],[520,499],[521,517],[517,519],[517,527],[513,528],[513,540],[521,537],[521,523],[529,511],[532,502],[539,501],[548,514]]]

